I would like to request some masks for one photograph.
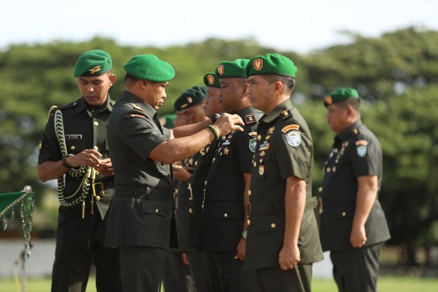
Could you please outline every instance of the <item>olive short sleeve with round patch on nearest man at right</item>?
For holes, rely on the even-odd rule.
[[[296,176],[307,180],[313,159],[313,144],[310,133],[302,131],[301,128],[286,133],[283,133],[281,129],[278,131],[272,137],[274,138],[272,147],[274,147],[281,178]]]

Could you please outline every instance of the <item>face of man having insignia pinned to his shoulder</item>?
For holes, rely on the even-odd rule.
[[[236,106],[240,105],[240,98],[245,91],[242,78],[220,79],[219,103],[222,111],[227,114],[236,114]]]

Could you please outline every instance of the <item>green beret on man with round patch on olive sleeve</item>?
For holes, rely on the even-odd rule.
[[[285,77],[295,77],[296,68],[292,59],[279,54],[259,55],[250,59],[246,66],[246,76],[253,75],[281,75]]]

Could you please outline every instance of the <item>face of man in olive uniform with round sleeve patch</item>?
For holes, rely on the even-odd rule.
[[[270,90],[272,85],[260,75],[248,77],[249,87],[246,92],[249,94],[249,101],[255,109],[267,112],[271,105]]]

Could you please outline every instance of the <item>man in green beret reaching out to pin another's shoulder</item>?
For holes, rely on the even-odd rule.
[[[175,70],[155,55],[136,55],[124,68],[125,91],[107,128],[116,187],[105,244],[119,247],[124,291],[157,291],[167,249],[176,240],[171,237],[175,220],[170,163],[194,155],[220,135],[242,131],[243,121],[224,114],[214,124],[208,119],[163,128],[157,110]]]

